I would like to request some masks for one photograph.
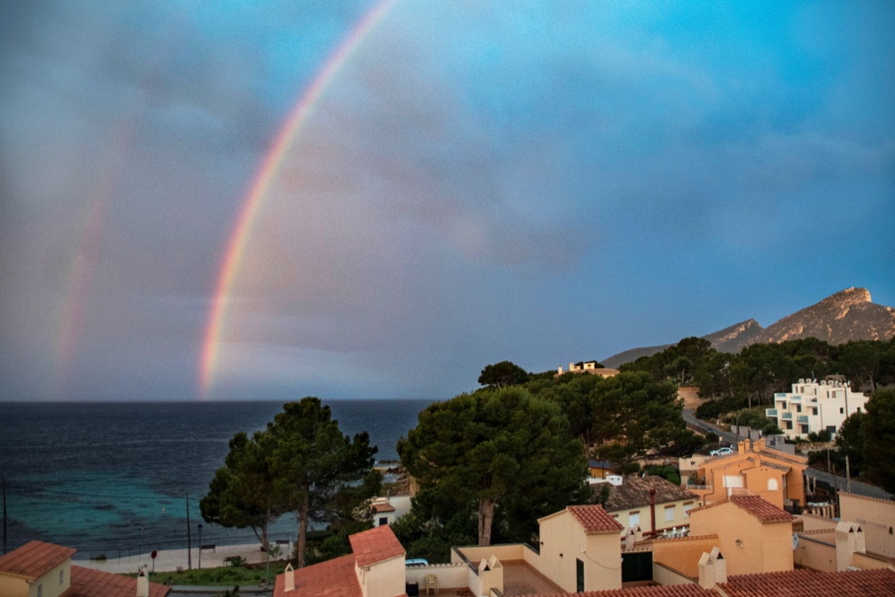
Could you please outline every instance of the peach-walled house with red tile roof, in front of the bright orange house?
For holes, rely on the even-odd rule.
[[[733,496],[690,511],[692,535],[717,535],[729,575],[792,570],[793,516],[758,496]]]

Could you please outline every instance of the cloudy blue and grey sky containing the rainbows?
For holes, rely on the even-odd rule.
[[[895,306],[895,4],[13,0],[0,401],[444,399]]]

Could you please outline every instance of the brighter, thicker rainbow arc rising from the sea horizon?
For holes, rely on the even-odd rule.
[[[261,163],[260,170],[249,192],[243,200],[239,217],[230,242],[227,244],[224,259],[221,261],[217,274],[217,286],[209,312],[208,325],[205,328],[205,337],[201,345],[200,355],[200,400],[209,399],[212,378],[220,355],[220,340],[226,322],[226,307],[230,292],[233,288],[236,275],[239,273],[240,263],[243,258],[246,244],[251,235],[251,227],[260,212],[271,184],[283,164],[286,151],[292,146],[295,137],[302,132],[304,124],[313,112],[317,101],[323,96],[330,81],[332,81],[339,69],[347,62],[354,50],[361,45],[371,30],[382,20],[397,0],[381,0],[369,13],[366,13],[354,26],[354,29],[345,37],[336,50],[329,55],[326,64],[320,69],[317,76],[311,81],[311,85],[299,98],[292,113],[286,119],[286,124],[280,129],[277,137],[268,151],[267,157]]]

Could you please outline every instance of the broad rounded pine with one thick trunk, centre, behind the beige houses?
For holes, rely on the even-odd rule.
[[[422,488],[478,503],[478,539],[489,545],[495,507],[509,496],[563,507],[580,490],[584,450],[559,405],[524,388],[460,395],[430,405],[398,453]],[[548,506],[549,505],[549,506]]]

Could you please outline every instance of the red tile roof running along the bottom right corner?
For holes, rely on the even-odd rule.
[[[845,572],[799,569],[728,576],[728,582],[719,586],[730,597],[879,597],[895,595],[895,572],[886,569]]]

